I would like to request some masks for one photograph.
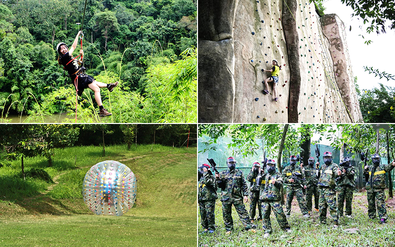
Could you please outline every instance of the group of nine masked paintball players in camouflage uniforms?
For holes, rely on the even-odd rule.
[[[308,164],[297,165],[298,158],[291,156],[290,165],[286,166],[282,173],[276,171],[275,160],[269,159],[255,162],[246,179],[250,182],[248,189],[243,172],[236,168],[236,159],[227,159],[228,169],[220,173],[212,174],[210,165],[203,164],[198,171],[198,203],[201,217],[201,225],[204,233],[215,231],[215,201],[218,198],[217,188],[221,190],[220,200],[222,202],[222,214],[225,223],[226,234],[233,231],[232,205],[235,206],[237,214],[245,231],[256,232],[254,225],[256,207],[258,207],[258,218],[263,221],[265,230],[264,238],[272,233],[270,213],[273,209],[276,220],[281,229],[292,232],[287,218],[291,213],[291,203],[294,195],[303,217],[310,217],[314,195],[315,207],[319,212],[319,221],[326,224],[326,212],[329,213],[333,222],[333,228],[338,227],[338,219],[343,216],[344,202],[346,201],[345,215],[352,217],[353,190],[355,187],[354,176],[356,169],[350,165],[350,158],[345,157],[343,162],[335,164],[332,162],[332,154],[323,154],[324,164],[319,168],[319,163],[310,157]],[[376,207],[380,223],[386,223],[387,210],[385,207],[385,173],[395,167],[395,161],[389,165],[380,164],[380,156],[372,156],[372,165],[364,166],[366,179],[366,190],[368,200],[368,216],[376,218]],[[281,205],[281,190],[286,186],[286,210]],[[244,204],[250,197],[249,213]]]

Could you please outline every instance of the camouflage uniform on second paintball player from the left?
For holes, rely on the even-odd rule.
[[[216,179],[218,187],[220,187],[220,183],[225,184],[225,189],[221,189],[225,229],[227,231],[233,230],[232,205],[235,206],[245,230],[251,229],[252,225],[248,212],[243,204],[243,196],[248,196],[248,186],[245,183],[243,172],[239,169],[221,171],[219,178]]]

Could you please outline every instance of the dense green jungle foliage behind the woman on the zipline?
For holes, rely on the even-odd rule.
[[[2,0],[0,3],[0,122],[28,114],[44,122],[76,115],[76,91],[58,65],[56,44],[73,43],[84,0]],[[86,73],[119,81],[103,105],[105,122],[197,121],[197,2],[194,0],[88,0],[82,49]],[[80,41],[74,55],[79,53]],[[77,104],[79,123],[100,122],[92,90]],[[66,122],[74,122],[68,119]]]

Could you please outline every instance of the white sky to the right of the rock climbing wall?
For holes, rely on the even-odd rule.
[[[386,34],[377,35],[376,32],[366,33],[366,27],[363,25],[361,18],[351,17],[353,8],[342,4],[340,0],[326,0],[323,3],[326,10],[325,14],[336,13],[344,22],[347,33],[347,46],[349,48],[353,74],[358,78],[357,84],[359,89],[371,89],[379,87],[379,83],[386,86],[395,87],[395,81],[387,79],[379,79],[374,74],[365,72],[363,66],[372,67],[379,72],[386,72],[395,75],[394,58],[395,58],[395,30],[390,30],[386,26]],[[350,32],[350,25],[352,30]],[[362,28],[359,26],[362,25]],[[362,39],[363,35],[365,39]],[[369,45],[364,42],[371,40]]]

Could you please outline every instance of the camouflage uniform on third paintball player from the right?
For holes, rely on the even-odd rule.
[[[319,220],[321,223],[326,223],[326,210],[329,206],[329,213],[333,222],[337,224],[337,205],[336,205],[336,191],[335,178],[338,176],[337,171],[339,165],[331,163],[329,165],[323,164],[320,169],[321,176],[319,177],[318,186],[319,193]]]

